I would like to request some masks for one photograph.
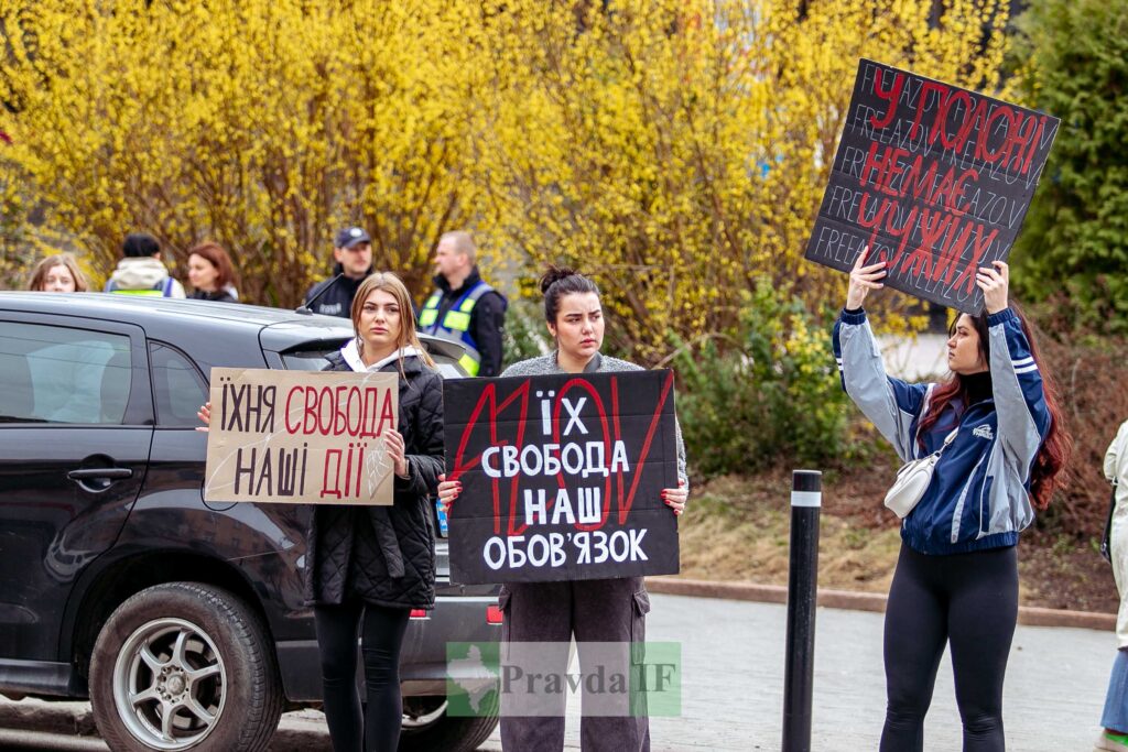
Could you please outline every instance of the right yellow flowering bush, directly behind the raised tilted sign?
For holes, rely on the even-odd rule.
[[[670,331],[735,327],[758,280],[837,303],[844,275],[802,255],[858,59],[990,90],[1006,23],[994,0],[497,6],[499,232],[593,273],[609,336],[649,362]]]

